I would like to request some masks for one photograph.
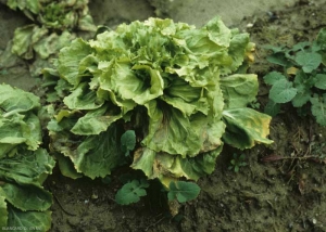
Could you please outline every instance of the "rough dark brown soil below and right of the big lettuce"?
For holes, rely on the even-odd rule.
[[[326,26],[325,12],[325,4],[300,1],[281,11],[243,18],[238,27],[256,43],[250,73],[261,79],[276,68],[266,63],[263,46],[314,39]],[[258,101],[263,111],[267,101],[263,83]],[[137,204],[117,205],[114,195],[122,185],[121,172],[105,184],[87,178],[72,180],[55,169],[46,182],[54,198],[51,231],[326,231],[325,128],[285,105],[272,120],[269,138],[274,140],[269,147],[237,151],[225,146],[215,171],[198,181],[199,197],[180,205],[175,217],[164,194],[154,189]],[[244,154],[248,164],[238,172],[228,169],[234,153]]]

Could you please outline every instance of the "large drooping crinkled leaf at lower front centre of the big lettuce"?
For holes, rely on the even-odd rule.
[[[224,126],[216,119],[211,119],[200,113],[191,119],[185,117],[180,111],[168,107],[164,102],[151,101],[146,105],[150,116],[149,133],[142,144],[155,152],[180,154],[183,157],[195,156],[202,149],[206,140],[214,145],[221,145],[220,138]],[[208,128],[216,128],[215,139],[208,133]],[[220,137],[218,137],[220,136]]]

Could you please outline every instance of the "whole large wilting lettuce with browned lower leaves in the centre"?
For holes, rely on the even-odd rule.
[[[218,17],[202,28],[149,18],[74,40],[45,70],[57,82],[48,129],[63,173],[104,178],[127,164],[168,189],[211,173],[224,142],[272,143],[271,117],[247,107],[258,92],[256,75],[243,74],[253,49]]]

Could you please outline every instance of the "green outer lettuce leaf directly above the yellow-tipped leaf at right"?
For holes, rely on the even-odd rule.
[[[221,78],[220,82],[226,102],[225,108],[246,107],[255,100],[259,89],[256,75],[236,74]]]

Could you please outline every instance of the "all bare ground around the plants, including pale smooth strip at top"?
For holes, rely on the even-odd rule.
[[[200,3],[198,3],[200,2]],[[288,44],[312,40],[326,26],[325,1],[101,1],[93,0],[90,10],[97,24],[111,27],[149,16],[172,17],[201,26],[215,14],[230,27],[251,34],[256,43],[256,62],[251,73],[262,78],[275,67],[264,60],[264,44]],[[255,2],[255,4],[254,4]],[[272,4],[271,4],[272,2]],[[16,27],[25,17],[0,4],[0,49],[4,50]],[[1,82],[29,90],[36,82],[28,76],[27,65],[15,61]],[[267,100],[261,85],[261,111]],[[305,158],[326,153],[326,130],[309,118],[300,118],[291,106],[272,121],[271,138],[275,143],[244,151],[248,166],[238,173],[228,170],[233,153],[225,147],[216,162],[216,170],[198,184],[199,197],[180,205],[172,217],[164,196],[152,190],[140,203],[120,206],[114,195],[122,183],[121,172],[106,185],[100,180],[71,180],[55,169],[46,188],[54,196],[51,231],[326,231],[325,164]],[[271,155],[285,159],[272,162]],[[120,170],[124,171],[124,170]]]

